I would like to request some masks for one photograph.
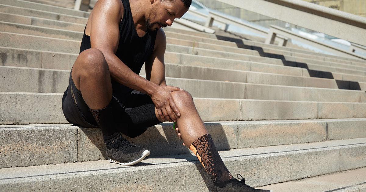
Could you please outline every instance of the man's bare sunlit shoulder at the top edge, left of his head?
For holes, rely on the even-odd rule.
[[[122,19],[124,7],[121,0],[98,0],[93,8],[93,15],[108,14]]]

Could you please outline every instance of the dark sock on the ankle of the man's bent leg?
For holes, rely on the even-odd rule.
[[[121,133],[115,129],[115,123],[112,114],[112,101],[103,109],[90,109],[95,120],[97,121],[102,133],[104,143],[108,145],[110,142],[118,138]]]

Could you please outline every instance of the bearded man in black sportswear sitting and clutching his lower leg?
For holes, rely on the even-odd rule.
[[[124,139],[173,121],[183,145],[210,174],[216,191],[262,191],[236,180],[221,160],[192,96],[165,83],[161,27],[183,16],[191,0],[99,0],[85,27],[80,54],[62,99],[66,119],[100,127],[110,162],[134,165],[150,151]],[[146,79],[139,76],[145,63]]]

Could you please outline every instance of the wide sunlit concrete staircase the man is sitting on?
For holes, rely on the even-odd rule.
[[[152,152],[136,166],[106,161],[98,128],[68,124],[61,97],[89,12],[42,1],[0,0],[1,191],[209,191],[172,123],[128,138]],[[284,191],[287,181],[366,167],[365,61],[164,30],[167,83],[193,95],[223,161],[247,184],[285,182]]]

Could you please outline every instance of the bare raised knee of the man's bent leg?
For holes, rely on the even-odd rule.
[[[79,54],[77,63],[87,75],[94,77],[109,72],[104,54],[99,49],[91,48],[84,50]]]

